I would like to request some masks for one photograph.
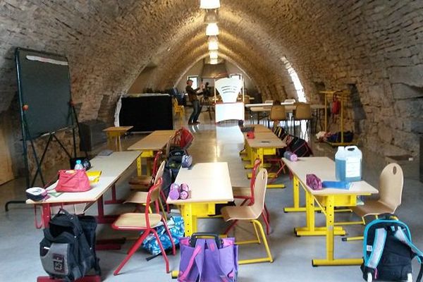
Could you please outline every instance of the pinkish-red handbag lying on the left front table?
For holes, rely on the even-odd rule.
[[[91,189],[85,169],[59,171],[59,181],[56,185],[56,192],[85,192]]]

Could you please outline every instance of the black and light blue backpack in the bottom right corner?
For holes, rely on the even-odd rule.
[[[412,244],[408,226],[393,214],[381,214],[364,229],[361,266],[366,281],[412,282],[412,259],[422,264],[423,253]],[[421,281],[423,265],[417,282]]]

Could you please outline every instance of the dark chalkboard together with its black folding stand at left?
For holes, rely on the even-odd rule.
[[[66,56],[16,48],[15,60],[25,164],[25,189],[27,189],[35,185],[37,176],[41,179],[42,185],[46,185],[42,173],[42,162],[52,140],[58,142],[63,152],[72,158],[71,153],[56,136],[60,130],[72,130],[73,156],[76,157],[75,128],[79,128],[79,123],[71,97],[71,79]],[[47,136],[47,144],[39,157],[35,150],[34,140]],[[28,141],[37,166],[32,180],[27,156]],[[87,156],[87,152],[85,155]],[[7,202],[6,212],[9,204],[25,204],[25,201]]]

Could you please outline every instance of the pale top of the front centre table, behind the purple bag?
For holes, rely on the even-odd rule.
[[[232,202],[232,184],[228,163],[199,163],[190,169],[180,168],[175,183],[186,183],[190,188],[187,200],[171,200],[168,204]]]

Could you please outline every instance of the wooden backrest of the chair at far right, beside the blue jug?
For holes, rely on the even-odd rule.
[[[379,201],[395,212],[403,195],[403,169],[398,164],[388,164],[379,178]]]

